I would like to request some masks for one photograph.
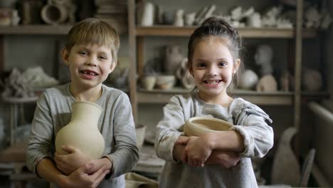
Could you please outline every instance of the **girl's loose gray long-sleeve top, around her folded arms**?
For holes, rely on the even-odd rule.
[[[231,130],[243,136],[245,151],[240,162],[229,169],[221,165],[191,167],[172,157],[174,144],[184,135],[183,125],[190,117],[216,117],[233,123]],[[241,98],[228,108],[205,103],[196,93],[175,95],[164,107],[164,117],[157,125],[155,150],[166,160],[160,187],[258,187],[250,157],[263,157],[273,147],[273,129],[268,115],[258,106]]]

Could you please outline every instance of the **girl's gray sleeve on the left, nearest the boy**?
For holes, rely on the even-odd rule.
[[[155,150],[157,156],[171,162],[174,144],[179,136],[183,135],[181,126],[184,125],[184,114],[179,100],[171,98],[169,104],[163,108],[163,118],[156,128]]]

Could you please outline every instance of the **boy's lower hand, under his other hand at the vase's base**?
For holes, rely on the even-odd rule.
[[[72,174],[70,174],[64,182],[60,184],[60,187],[88,187],[95,188],[102,182],[105,175],[110,172],[110,170],[104,170],[103,167],[98,169],[93,174],[93,166],[90,164],[83,165],[82,167],[76,169]]]

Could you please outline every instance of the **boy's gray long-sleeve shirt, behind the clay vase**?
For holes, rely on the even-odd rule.
[[[36,173],[36,165],[41,159],[53,160],[56,135],[70,122],[74,102],[69,84],[46,89],[38,99],[26,152],[26,164],[32,172]],[[104,179],[99,187],[125,187],[123,174],[129,172],[139,159],[129,98],[120,90],[102,85],[102,95],[96,103],[103,109],[98,120],[98,130],[105,140],[103,156],[113,162],[112,176]]]

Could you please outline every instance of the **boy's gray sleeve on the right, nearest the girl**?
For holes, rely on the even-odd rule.
[[[111,179],[119,177],[125,172],[130,172],[139,160],[139,149],[137,148],[137,137],[129,98],[124,93],[117,98],[115,103],[117,103],[113,120],[115,150],[110,155],[105,156],[113,162]]]

